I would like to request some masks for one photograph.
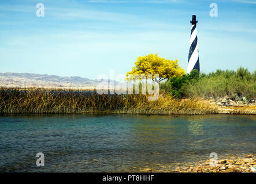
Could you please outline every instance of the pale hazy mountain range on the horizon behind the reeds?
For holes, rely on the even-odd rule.
[[[69,87],[94,89],[100,81],[81,78],[80,76],[57,76],[57,75],[40,75],[28,73],[0,73],[1,87]],[[108,85],[107,82],[103,83]]]

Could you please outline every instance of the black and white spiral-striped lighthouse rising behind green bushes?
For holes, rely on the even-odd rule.
[[[191,34],[190,34],[190,52],[188,53],[188,68],[187,73],[190,73],[191,70],[200,71],[199,66],[199,55],[198,55],[198,40],[197,40],[197,32],[196,32],[196,16],[192,16],[192,24]]]

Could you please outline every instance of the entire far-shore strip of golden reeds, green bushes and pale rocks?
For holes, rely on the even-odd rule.
[[[166,79],[159,83],[156,101],[149,101],[149,95],[98,94],[91,89],[0,87],[0,114],[256,114],[256,71],[192,70]]]

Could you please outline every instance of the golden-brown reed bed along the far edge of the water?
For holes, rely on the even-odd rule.
[[[69,89],[0,89],[1,114],[214,114],[217,109],[198,98],[176,99],[166,93],[159,94],[157,101],[148,101],[147,95],[100,95],[96,91]]]

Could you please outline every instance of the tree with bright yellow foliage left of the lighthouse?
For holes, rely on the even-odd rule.
[[[175,61],[164,59],[159,57],[157,53],[149,54],[146,56],[138,57],[135,62],[135,67],[132,67],[132,71],[127,72],[127,77],[134,75],[147,75],[153,76],[153,81],[160,82],[164,79],[172,78],[173,76],[180,77],[185,74],[185,70],[178,64],[178,60]],[[154,75],[158,74],[159,79],[154,78]],[[127,78],[127,79],[128,79]]]

